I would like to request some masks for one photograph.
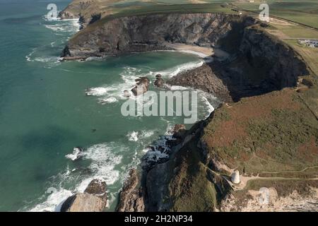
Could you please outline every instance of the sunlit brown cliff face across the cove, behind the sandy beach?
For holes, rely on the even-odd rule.
[[[73,37],[62,57],[101,57],[168,49],[165,42],[211,47],[227,35],[235,23],[247,26],[254,20],[221,13],[157,14],[102,20]]]

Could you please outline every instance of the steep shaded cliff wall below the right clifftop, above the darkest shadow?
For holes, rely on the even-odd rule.
[[[295,50],[263,30],[245,29],[240,52],[251,67],[264,69],[265,79],[277,90],[293,87],[298,81],[298,76],[309,74],[306,64]]]

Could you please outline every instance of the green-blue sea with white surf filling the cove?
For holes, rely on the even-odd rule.
[[[156,73],[167,78],[202,60],[148,52],[59,62],[78,23],[47,21],[49,3],[61,10],[69,1],[0,0],[0,211],[58,211],[95,178],[107,182],[112,211],[122,182],[147,146],[183,122],[182,117],[123,117],[123,91],[138,76],[153,82]],[[159,91],[153,84],[151,90]],[[217,104],[199,92],[199,119]],[[77,146],[84,148],[83,156],[73,160]]]

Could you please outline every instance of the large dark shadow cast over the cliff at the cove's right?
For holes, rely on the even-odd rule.
[[[223,81],[233,101],[295,87],[307,76],[307,65],[287,44],[269,35],[263,23],[250,28],[235,26],[218,44],[231,57],[208,66]]]

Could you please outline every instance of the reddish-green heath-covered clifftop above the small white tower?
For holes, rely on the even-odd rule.
[[[241,172],[318,165],[318,121],[292,88],[223,106],[204,132],[211,156]]]

